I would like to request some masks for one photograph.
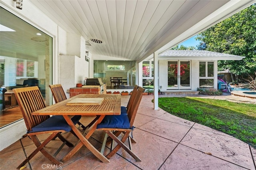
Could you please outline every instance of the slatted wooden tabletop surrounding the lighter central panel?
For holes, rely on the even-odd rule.
[[[67,105],[76,98],[104,98],[100,105]],[[54,105],[40,109],[33,115],[120,115],[121,95],[80,94]]]

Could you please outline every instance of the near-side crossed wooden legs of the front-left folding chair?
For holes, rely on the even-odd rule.
[[[48,158],[52,163],[54,164],[63,164],[63,162],[61,162],[60,160],[58,160],[55,156],[53,156],[52,154],[50,154],[49,152],[47,152],[46,150],[44,150],[44,146],[46,144],[48,144],[56,135],[58,134],[58,132],[54,132],[52,133],[46,140],[44,140],[44,142],[40,142],[38,140],[38,138],[36,137],[36,135],[32,135],[30,136],[31,139],[33,140],[34,144],[36,145],[36,150],[34,150],[17,168],[20,169],[22,166],[24,166],[26,163],[28,163],[28,161],[33,158],[37,152],[42,152],[42,154],[44,154],[44,156],[46,158]]]

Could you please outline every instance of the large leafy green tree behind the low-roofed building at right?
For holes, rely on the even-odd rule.
[[[237,81],[256,71],[256,4],[198,34],[197,49],[244,56],[240,61],[218,61],[218,69],[236,76]]]

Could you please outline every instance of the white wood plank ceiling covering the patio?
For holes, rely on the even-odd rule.
[[[253,2],[31,0],[66,32],[84,37],[91,53],[137,61],[183,42]]]

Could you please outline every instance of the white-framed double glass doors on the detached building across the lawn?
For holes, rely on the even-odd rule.
[[[168,61],[167,89],[191,89],[190,61]]]

